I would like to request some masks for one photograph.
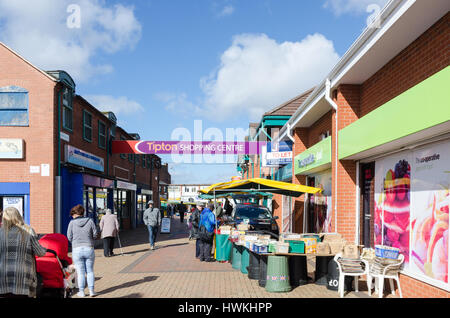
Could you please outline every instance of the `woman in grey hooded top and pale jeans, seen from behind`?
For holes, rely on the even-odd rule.
[[[73,220],[69,223],[67,238],[72,243],[72,258],[77,270],[79,289],[77,296],[85,296],[84,289],[87,280],[89,296],[93,297],[97,295],[94,291],[94,241],[98,233],[94,221],[85,217],[84,212],[84,207],[80,204],[70,210]]]

